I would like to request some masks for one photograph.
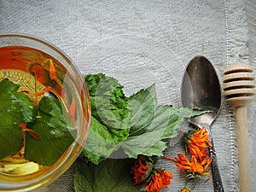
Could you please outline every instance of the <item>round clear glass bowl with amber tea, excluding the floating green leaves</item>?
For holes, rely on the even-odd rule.
[[[19,153],[0,160],[0,191],[30,191],[52,183],[81,153],[89,131],[90,96],[73,61],[42,39],[24,34],[0,34],[0,60],[0,81],[7,78],[20,84],[19,91],[25,93],[34,106],[42,97],[52,96],[60,101],[61,110],[68,116],[73,110],[69,116],[73,143],[52,165],[42,166],[26,160],[25,144]],[[71,101],[73,109],[69,108]]]

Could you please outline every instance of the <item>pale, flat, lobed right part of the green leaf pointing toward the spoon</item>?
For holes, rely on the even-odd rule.
[[[166,148],[165,139],[176,137],[177,128],[185,118],[191,116],[191,110],[156,106],[154,85],[131,96],[131,131],[122,143],[122,148],[130,158],[138,154],[161,156]]]

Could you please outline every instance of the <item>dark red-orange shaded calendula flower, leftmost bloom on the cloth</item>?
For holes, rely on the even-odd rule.
[[[153,169],[153,162],[148,160],[148,157],[138,155],[137,161],[134,166],[131,167],[131,174],[133,174],[134,184],[143,183]]]

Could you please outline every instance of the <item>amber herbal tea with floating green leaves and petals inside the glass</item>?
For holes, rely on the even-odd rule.
[[[0,174],[47,170],[73,143],[79,92],[67,73],[38,49],[0,48]]]

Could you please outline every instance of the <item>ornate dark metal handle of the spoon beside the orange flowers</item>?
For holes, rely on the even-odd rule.
[[[214,148],[213,139],[211,138],[210,142],[212,143],[212,147],[209,148],[210,154],[212,157],[212,180],[214,186],[214,192],[224,192],[223,183],[221,180],[221,176],[218,170],[218,160],[217,155]]]

